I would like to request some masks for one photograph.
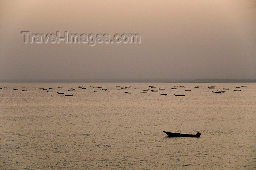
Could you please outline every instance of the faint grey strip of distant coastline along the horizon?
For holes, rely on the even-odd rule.
[[[36,79],[16,79],[16,80],[0,80],[0,83],[255,83],[256,79],[191,79],[191,80],[159,80],[159,81],[97,81],[97,80],[84,80],[84,79],[63,79],[63,80],[36,80]]]

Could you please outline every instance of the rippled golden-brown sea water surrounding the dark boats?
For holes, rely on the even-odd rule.
[[[256,169],[256,83],[0,88],[3,170]],[[162,131],[201,136],[167,137]]]

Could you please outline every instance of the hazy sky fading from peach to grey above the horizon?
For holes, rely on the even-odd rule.
[[[24,43],[137,33],[140,44]],[[0,1],[0,80],[256,79],[255,0]]]

